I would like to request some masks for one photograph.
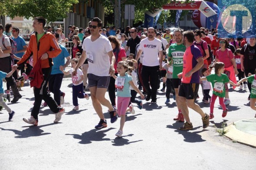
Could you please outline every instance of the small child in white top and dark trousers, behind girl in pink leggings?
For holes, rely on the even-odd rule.
[[[127,60],[128,66],[130,66],[133,70],[137,69],[138,63],[135,59],[131,59],[131,60]],[[131,76],[132,78],[132,82],[134,83],[134,85],[136,87],[138,87],[137,84],[137,77],[136,77],[136,72],[132,71],[132,70],[128,70],[128,74]],[[132,88],[132,86],[130,86],[131,89],[131,101],[130,101],[130,105],[128,110],[126,110],[127,112],[131,112],[132,114],[135,114],[135,110],[133,109],[133,105],[131,103],[136,103],[137,106],[139,107],[139,109],[142,109],[143,104],[141,100],[135,99],[137,92],[134,90],[134,88]]]

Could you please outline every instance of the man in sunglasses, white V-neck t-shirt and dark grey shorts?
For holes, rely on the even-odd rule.
[[[87,58],[89,63],[88,87],[91,92],[92,105],[100,118],[98,125],[95,126],[97,129],[107,127],[101,105],[108,107],[111,123],[114,123],[118,118],[116,108],[112,107],[111,103],[105,98],[110,75],[115,72],[115,55],[108,38],[99,34],[101,27],[102,21],[98,17],[93,18],[91,25],[89,25],[91,36],[85,38],[82,45],[82,56],[75,67],[75,70],[77,70]],[[75,70],[72,75],[76,75]]]

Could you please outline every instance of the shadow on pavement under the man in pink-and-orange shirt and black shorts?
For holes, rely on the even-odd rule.
[[[204,142],[206,140],[202,139],[202,136],[197,134],[200,132],[206,131],[206,129],[203,129],[202,131],[194,131],[196,129],[199,129],[201,126],[194,127],[193,130],[179,130],[179,128],[183,126],[183,123],[175,122],[172,125],[167,125],[167,128],[175,129],[174,132],[178,132],[178,134],[181,134],[184,136],[184,142]],[[194,132],[193,132],[194,131]]]

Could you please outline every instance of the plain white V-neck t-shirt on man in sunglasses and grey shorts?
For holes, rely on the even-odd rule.
[[[97,40],[92,42],[90,35],[85,38],[82,49],[85,50],[89,63],[88,73],[96,76],[109,76],[110,61],[108,52],[112,51],[112,47],[108,38],[100,35]],[[93,59],[93,63],[90,62],[89,56]]]

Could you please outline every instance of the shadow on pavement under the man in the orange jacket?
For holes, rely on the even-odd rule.
[[[23,126],[23,127],[26,127],[27,129],[24,129],[22,131],[19,131],[16,129],[4,129],[1,127],[0,127],[0,129],[14,132],[17,135],[17,136],[15,136],[15,138],[29,138],[32,136],[42,136],[42,135],[51,134],[51,133],[43,133],[44,131],[40,128],[45,127],[45,126],[55,125],[55,124],[57,124],[57,123],[50,123],[50,124],[41,125],[41,126],[34,126],[34,125]]]

